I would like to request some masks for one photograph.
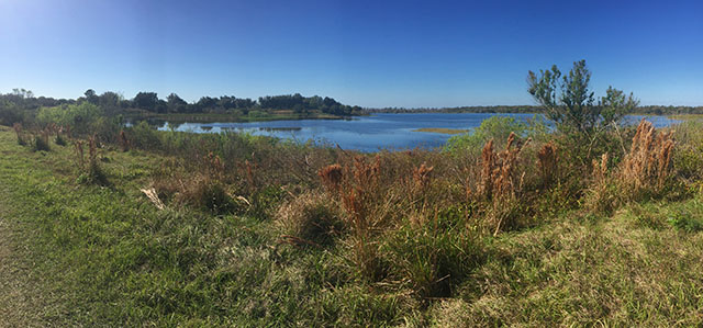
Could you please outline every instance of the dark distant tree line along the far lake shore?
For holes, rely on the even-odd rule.
[[[23,122],[29,112],[35,114],[41,108],[67,106],[89,103],[108,116],[116,115],[169,115],[169,114],[222,114],[233,117],[276,118],[336,117],[364,115],[369,113],[543,113],[536,105],[492,105],[457,108],[382,108],[369,109],[346,105],[330,97],[303,97],[300,93],[266,95],[257,100],[234,95],[202,97],[196,102],[187,102],[176,93],[159,99],[156,92],[138,92],[133,99],[107,91],[98,94],[89,89],[78,99],[55,99],[36,97],[25,89],[13,89],[10,93],[0,93],[0,124],[11,125]],[[703,114],[703,106],[637,106],[631,114],[673,115]],[[326,115],[326,116],[325,116]],[[33,116],[33,115],[32,115]]]

